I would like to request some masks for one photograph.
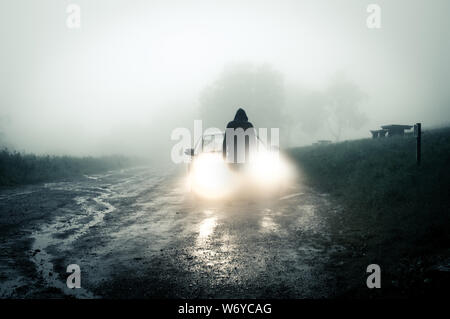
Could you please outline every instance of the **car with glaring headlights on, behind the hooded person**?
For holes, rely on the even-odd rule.
[[[236,194],[268,194],[278,191],[292,170],[278,149],[269,149],[259,138],[246,164],[227,163],[223,157],[224,132],[204,133],[194,148],[185,150],[190,157],[187,184],[190,192],[207,199]],[[241,169],[235,169],[239,165]]]

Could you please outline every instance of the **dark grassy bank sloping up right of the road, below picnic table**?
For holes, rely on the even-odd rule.
[[[340,257],[360,268],[379,263],[396,296],[440,291],[449,279],[447,272],[433,281],[433,267],[450,257],[450,129],[425,131],[422,142],[419,167],[413,137],[290,150],[306,182],[342,206],[333,225],[352,256]],[[368,293],[362,279],[354,279],[352,295]]]

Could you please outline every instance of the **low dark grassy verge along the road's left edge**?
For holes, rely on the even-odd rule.
[[[36,156],[0,151],[0,186],[16,186],[72,178],[130,166],[123,156]]]

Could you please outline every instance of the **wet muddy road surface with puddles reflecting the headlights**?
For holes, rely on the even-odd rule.
[[[193,199],[177,174],[129,169],[0,192],[1,297],[322,298],[336,208],[302,185]],[[81,289],[66,267],[81,268]]]

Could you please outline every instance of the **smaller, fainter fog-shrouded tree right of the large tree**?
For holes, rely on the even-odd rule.
[[[336,141],[346,129],[360,129],[367,121],[360,105],[366,94],[344,73],[337,73],[325,92],[326,124]]]

